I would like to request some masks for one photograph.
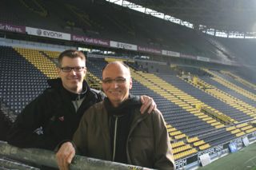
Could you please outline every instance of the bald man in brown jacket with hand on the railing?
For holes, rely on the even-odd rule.
[[[120,61],[106,65],[102,70],[106,98],[86,110],[73,143],[67,141],[59,148],[56,157],[60,169],[68,169],[75,152],[146,168],[174,169],[162,114],[157,109],[141,114],[142,104],[138,97],[130,95],[131,87],[127,65]]]

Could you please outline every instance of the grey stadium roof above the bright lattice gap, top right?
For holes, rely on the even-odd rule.
[[[254,0],[127,0],[163,14],[216,30],[256,32]]]

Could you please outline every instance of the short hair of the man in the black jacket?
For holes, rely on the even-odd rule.
[[[80,57],[82,60],[85,61],[86,64],[86,55],[82,53],[82,51],[78,51],[76,49],[66,49],[62,53],[58,55],[58,66],[60,67],[62,64],[62,58],[63,57],[70,57],[70,58],[75,58],[75,57]]]

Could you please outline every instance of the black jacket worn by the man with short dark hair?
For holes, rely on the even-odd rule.
[[[85,99],[76,112],[72,101],[79,98],[79,94],[64,89],[60,78],[49,80],[48,84],[50,88],[44,90],[18,115],[7,135],[9,144],[53,150],[62,140],[72,139],[86,109],[104,97],[102,92],[90,89],[84,81],[81,95]]]

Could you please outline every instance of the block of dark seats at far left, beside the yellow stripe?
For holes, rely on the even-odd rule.
[[[12,47],[0,46],[0,56],[1,99],[18,114],[48,87],[47,77]]]

